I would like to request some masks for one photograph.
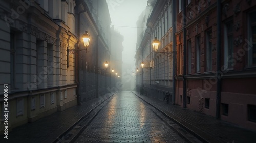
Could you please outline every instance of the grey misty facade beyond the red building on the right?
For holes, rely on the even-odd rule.
[[[137,40],[135,55],[139,69],[136,78],[137,90],[163,99],[173,89],[172,1],[148,1],[146,10],[147,14],[143,18],[145,20],[141,22],[147,28],[137,34],[141,37]],[[154,51],[152,47],[155,37],[161,43],[158,51]],[[145,64],[144,68],[141,67],[141,62]]]

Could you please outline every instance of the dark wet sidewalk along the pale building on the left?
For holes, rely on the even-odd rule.
[[[8,133],[8,139],[0,135],[0,142],[53,142],[110,97],[113,96],[103,95],[99,98],[83,102],[82,105],[53,113],[36,122],[16,127]]]

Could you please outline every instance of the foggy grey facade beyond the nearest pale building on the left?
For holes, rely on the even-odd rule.
[[[90,35],[87,51],[80,51],[74,56],[77,60],[76,81],[78,101],[84,102],[109,92],[111,19],[106,1],[77,1],[76,32],[82,36],[84,31]],[[108,61],[106,69],[104,63]]]

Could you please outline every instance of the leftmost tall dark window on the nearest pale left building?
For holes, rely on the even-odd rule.
[[[10,61],[11,61],[11,89],[15,88],[15,54],[16,54],[16,38],[15,34],[13,32],[10,33],[10,45],[11,45],[11,56],[10,56]]]

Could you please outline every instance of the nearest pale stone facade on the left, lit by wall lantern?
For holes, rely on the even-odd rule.
[[[1,1],[0,61],[5,68],[0,82],[2,95],[8,85],[8,106],[1,96],[0,108],[2,121],[8,108],[10,130],[77,104],[74,60],[67,68],[67,47],[78,41],[74,6],[74,1]]]

